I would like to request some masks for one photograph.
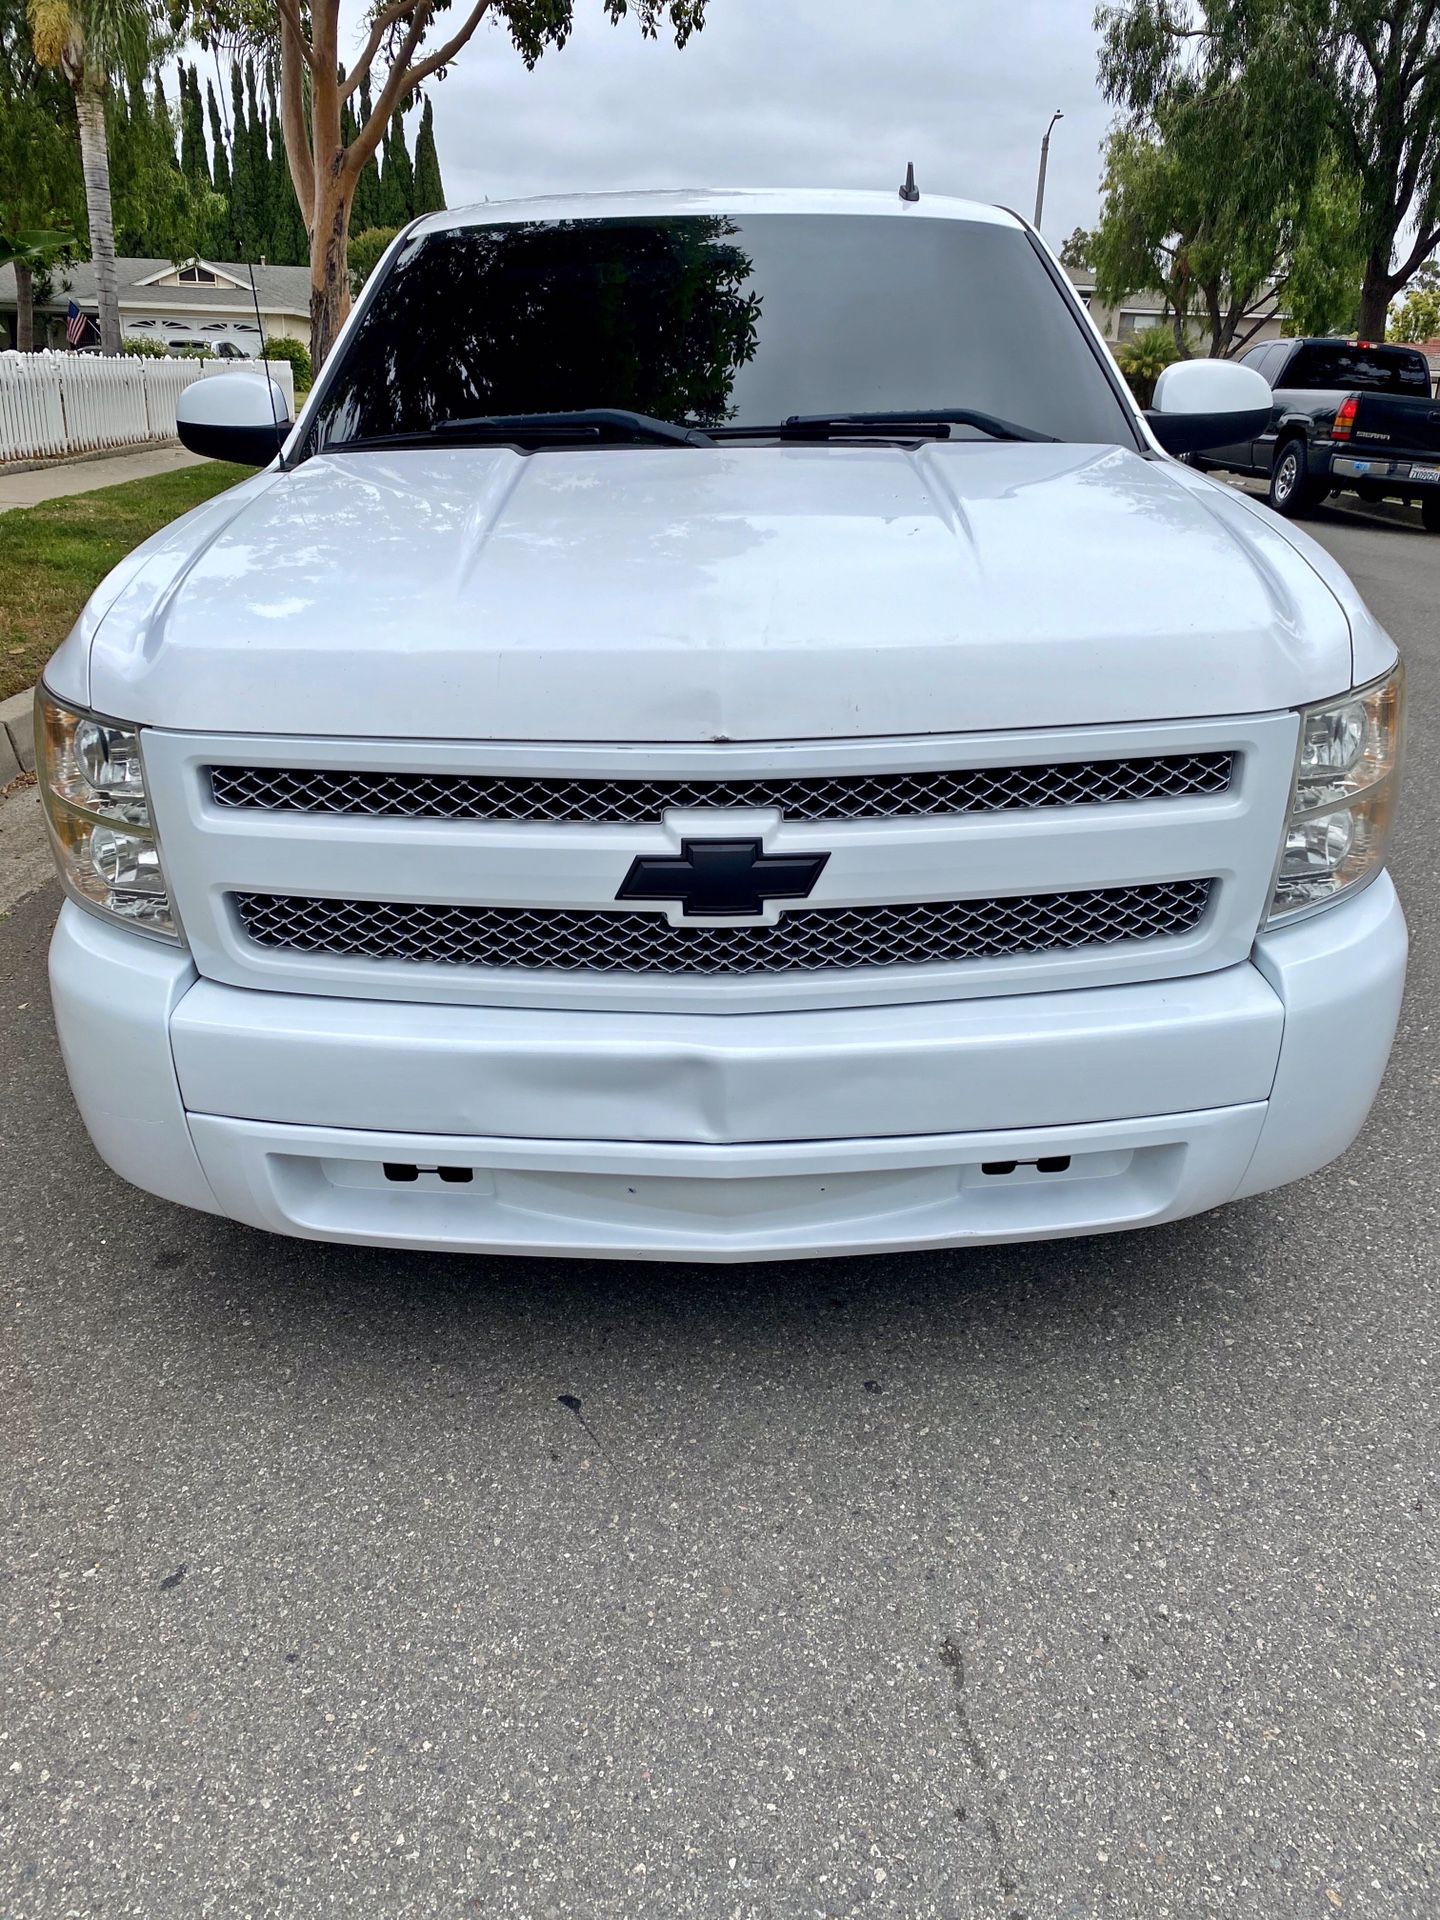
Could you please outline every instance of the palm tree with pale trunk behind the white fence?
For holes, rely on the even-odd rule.
[[[27,0],[35,58],[75,88],[84,211],[100,298],[100,351],[119,353],[115,221],[109,211],[106,90],[115,73],[144,67],[156,31],[152,0]]]

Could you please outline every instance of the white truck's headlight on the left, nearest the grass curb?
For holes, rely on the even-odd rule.
[[[146,801],[140,733],[35,695],[40,799],[65,893],[136,933],[180,941]]]

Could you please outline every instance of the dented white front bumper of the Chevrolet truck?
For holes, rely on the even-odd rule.
[[[102,1158],[321,1240],[774,1260],[1156,1225],[1344,1152],[1405,975],[1388,876],[1181,981],[801,1014],[257,993],[65,906]]]

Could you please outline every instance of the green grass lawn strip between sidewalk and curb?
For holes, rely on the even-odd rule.
[[[0,513],[0,701],[40,678],[115,561],[248,472],[209,461]]]

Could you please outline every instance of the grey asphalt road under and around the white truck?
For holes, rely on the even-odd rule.
[[[346,1252],[96,1164],[0,922],[0,1914],[1440,1914],[1440,541],[1359,1146],[1148,1235]]]

